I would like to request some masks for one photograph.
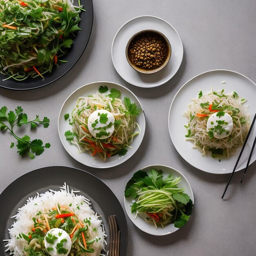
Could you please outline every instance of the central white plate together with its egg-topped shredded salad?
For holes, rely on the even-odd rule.
[[[58,132],[67,152],[90,167],[109,168],[129,159],[145,133],[141,103],[130,90],[112,82],[94,82],[63,103]]]

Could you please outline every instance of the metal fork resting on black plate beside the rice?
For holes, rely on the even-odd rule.
[[[110,254],[109,256],[119,256],[120,231],[117,229],[115,215],[108,216],[110,226]]]

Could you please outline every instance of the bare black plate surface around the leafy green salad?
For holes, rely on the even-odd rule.
[[[42,87],[49,83],[52,83],[59,79],[61,76],[66,74],[74,64],[79,60],[85,47],[89,41],[90,34],[92,31],[92,21],[93,21],[93,5],[92,0],[81,0],[81,4],[83,4],[83,9],[85,11],[81,11],[80,17],[81,21],[79,22],[79,27],[81,31],[76,34],[76,38],[74,38],[74,44],[71,46],[70,51],[63,56],[63,60],[67,62],[60,63],[60,67],[54,67],[52,69],[52,73],[44,74],[44,78],[40,76],[36,78],[28,78],[25,81],[16,81],[14,79],[6,79],[7,76],[4,76],[0,73],[0,86],[7,89],[12,90],[29,90]],[[74,5],[78,5],[78,0],[74,0]]]

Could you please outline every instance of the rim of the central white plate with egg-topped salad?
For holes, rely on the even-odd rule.
[[[60,134],[60,128],[59,128],[59,125],[60,125],[59,123],[60,123],[60,121],[59,121],[59,120],[61,119],[61,111],[62,111],[62,109],[63,109],[65,103],[67,102],[67,100],[68,100],[74,93],[76,93],[78,90],[81,90],[82,88],[84,88],[84,87],[86,87],[86,86],[88,86],[88,85],[92,85],[92,84],[96,84],[96,83],[110,83],[110,84],[115,84],[115,85],[120,86],[121,88],[127,90],[128,92],[130,92],[130,93],[133,95],[133,97],[135,97],[135,99],[137,99],[137,101],[139,102],[140,107],[141,107],[141,115],[144,116],[144,120],[145,120],[145,121],[144,121],[145,129],[144,129],[144,130],[140,130],[140,134],[139,134],[139,135],[141,135],[142,137],[141,137],[141,142],[140,142],[139,145],[138,145],[138,148],[137,148],[137,149],[135,150],[135,152],[133,152],[127,159],[125,159],[125,160],[123,160],[123,161],[121,161],[121,162],[116,161],[115,164],[112,164],[111,166],[105,166],[105,165],[103,165],[103,166],[88,165],[88,164],[85,164],[84,162],[79,161],[78,159],[75,159],[75,158],[69,153],[69,151],[67,150],[67,148],[65,147],[65,145],[64,145],[64,143],[63,143],[63,141],[62,141],[62,139],[61,139],[61,134]],[[72,127],[72,126],[71,126],[71,127]],[[67,99],[66,99],[66,100],[64,101],[64,103],[62,104],[61,109],[60,109],[60,111],[59,111],[59,115],[58,115],[58,135],[59,135],[59,138],[60,138],[60,140],[61,140],[61,144],[63,145],[63,147],[65,148],[65,150],[67,151],[67,153],[68,153],[73,159],[75,159],[77,162],[79,162],[79,163],[81,163],[81,164],[83,164],[83,165],[85,165],[85,166],[89,166],[89,167],[92,167],[92,168],[99,168],[99,169],[112,168],[112,167],[118,166],[118,165],[123,164],[124,162],[126,162],[126,161],[127,161],[128,159],[130,159],[130,158],[137,152],[137,150],[139,149],[139,147],[140,147],[140,145],[141,145],[141,143],[142,143],[142,141],[143,141],[143,139],[144,139],[145,130],[146,130],[146,115],[145,115],[145,112],[144,112],[144,110],[143,110],[143,108],[142,108],[141,102],[139,101],[138,97],[137,97],[131,90],[129,90],[128,88],[126,88],[124,85],[120,85],[119,83],[115,83],[115,82],[111,82],[111,81],[94,81],[94,82],[87,83],[87,84],[85,84],[85,85],[80,86],[79,88],[77,88],[76,90],[74,90],[74,91],[67,97]],[[121,159],[122,159],[122,158],[121,158]]]

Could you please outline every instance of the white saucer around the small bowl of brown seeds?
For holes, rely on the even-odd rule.
[[[153,74],[134,70],[126,60],[126,45],[133,34],[143,29],[155,29],[171,43],[171,58],[166,67]],[[183,58],[183,46],[177,31],[167,21],[155,16],[139,16],[126,22],[114,37],[111,49],[112,61],[118,74],[128,83],[149,88],[169,81],[178,71]]]

